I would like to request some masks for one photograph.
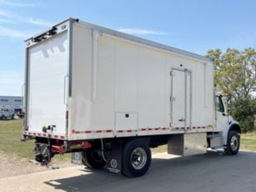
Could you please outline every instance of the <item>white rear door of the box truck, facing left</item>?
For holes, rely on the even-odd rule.
[[[26,130],[64,135],[69,74],[68,32],[52,36],[27,50]]]

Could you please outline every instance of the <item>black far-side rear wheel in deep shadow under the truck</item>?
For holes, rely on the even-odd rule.
[[[83,151],[83,165],[89,168],[101,169],[106,166],[107,162],[99,155],[95,149],[88,148]]]

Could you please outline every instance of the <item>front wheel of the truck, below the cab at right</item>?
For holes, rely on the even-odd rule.
[[[225,153],[227,155],[236,155],[239,152],[240,137],[235,131],[230,131],[228,134],[227,145],[225,148]]]

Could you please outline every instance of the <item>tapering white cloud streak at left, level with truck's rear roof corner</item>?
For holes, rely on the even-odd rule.
[[[25,40],[32,35],[35,35],[38,31],[32,30],[14,30],[9,27],[0,26],[0,37],[9,37]]]

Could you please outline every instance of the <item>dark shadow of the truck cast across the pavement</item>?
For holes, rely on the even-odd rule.
[[[145,176],[133,179],[107,171],[83,171],[88,174],[48,180],[45,184],[68,192],[256,191],[256,152],[239,152],[237,156],[208,152],[194,157],[156,158]]]

